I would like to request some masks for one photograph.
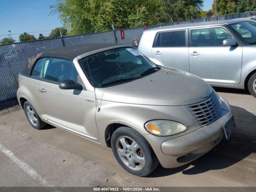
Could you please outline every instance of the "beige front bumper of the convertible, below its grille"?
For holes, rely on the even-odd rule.
[[[199,158],[216,146],[224,136],[223,125],[231,117],[228,102],[222,99],[222,115],[215,122],[198,128],[184,136],[160,143],[160,149],[153,147],[164,168],[182,166]],[[198,126],[198,125],[194,125]]]

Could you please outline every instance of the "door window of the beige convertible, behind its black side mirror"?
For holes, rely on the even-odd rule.
[[[78,82],[78,72],[72,61],[58,58],[46,58],[43,79],[53,82],[71,79]]]

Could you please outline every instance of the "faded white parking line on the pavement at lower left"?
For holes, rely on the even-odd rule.
[[[47,187],[51,187],[51,185],[49,185],[46,180],[40,176],[38,174],[38,172],[36,172],[33,168],[31,168],[28,164],[26,164],[25,162],[23,162],[22,160],[18,159],[13,152],[11,152],[10,150],[8,150],[5,146],[3,146],[2,144],[0,144],[0,150],[6,155],[8,156],[8,158],[10,158],[13,162],[15,162],[20,168],[22,168],[27,174],[29,174],[32,178],[38,180],[40,182],[40,184],[42,184],[43,186],[47,186]]]

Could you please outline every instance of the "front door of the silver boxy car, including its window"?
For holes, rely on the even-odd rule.
[[[190,73],[213,85],[240,83],[242,47],[239,44],[223,46],[223,40],[234,38],[226,28],[195,28],[190,29],[189,34]]]

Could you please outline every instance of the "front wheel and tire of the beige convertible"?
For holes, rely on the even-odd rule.
[[[130,127],[120,127],[114,131],[111,148],[122,168],[136,176],[148,176],[159,164],[145,138]]]

